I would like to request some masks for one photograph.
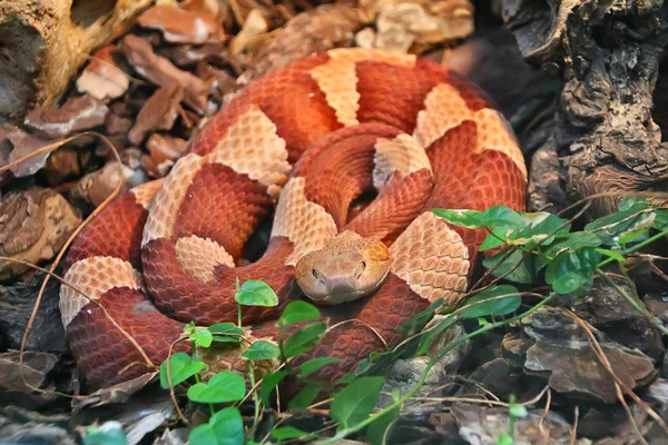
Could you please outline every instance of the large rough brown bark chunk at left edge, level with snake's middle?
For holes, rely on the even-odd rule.
[[[11,191],[0,200],[0,255],[32,264],[50,260],[80,222],[70,204],[51,189]],[[0,281],[28,269],[0,260]]]

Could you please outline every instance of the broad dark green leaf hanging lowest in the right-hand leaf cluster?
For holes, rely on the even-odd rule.
[[[592,280],[600,258],[601,254],[591,247],[563,251],[548,265],[546,281],[557,294],[572,293]]]

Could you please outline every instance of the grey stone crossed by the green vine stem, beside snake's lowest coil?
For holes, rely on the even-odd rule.
[[[441,318],[442,317],[440,316],[434,317],[434,319],[425,328],[439,323]],[[455,342],[464,335],[465,332],[463,326],[459,323],[454,323],[435,337],[429,350],[430,356],[434,356],[438,354],[438,352],[442,350],[449,344]],[[441,358],[441,360],[439,360],[429,370],[426,380],[416,396],[431,395],[432,397],[439,397],[442,392],[440,388],[454,379],[456,370],[470,350],[471,343],[466,340]],[[429,356],[397,359],[385,373],[385,384],[383,385],[381,393],[391,394],[392,389],[399,388],[402,395],[407,394],[415,387],[420,380],[420,376],[426,369],[426,366],[430,362],[431,358]],[[391,403],[391,396],[381,394],[377,406],[384,407]]]

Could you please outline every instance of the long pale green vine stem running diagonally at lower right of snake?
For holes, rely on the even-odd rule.
[[[372,414],[371,416],[366,417],[364,421],[360,422],[356,425],[353,425],[351,427],[344,428],[342,431],[340,431],[338,433],[336,433],[336,435],[334,435],[333,437],[330,437],[325,441],[321,441],[318,442],[320,445],[330,445],[330,444],[334,444],[343,438],[345,438],[347,435],[353,434],[355,432],[358,432],[360,429],[364,428],[365,426],[370,425],[372,422],[374,422],[375,419],[377,419],[379,417],[385,415],[386,413],[399,408],[401,409],[401,407],[411,398],[413,398],[413,396],[415,394],[418,394],[418,392],[420,390],[420,388],[422,388],[422,385],[424,385],[424,382],[426,380],[426,376],[429,375],[429,372],[431,370],[431,368],[441,359],[445,356],[445,354],[450,353],[452,349],[454,349],[455,347],[458,347],[459,345],[461,345],[462,343],[469,340],[470,338],[473,338],[480,334],[487,333],[488,330],[492,330],[495,329],[498,327],[501,326],[505,326],[509,325],[513,322],[517,322],[519,319],[524,318],[525,316],[534,313],[536,310],[538,310],[541,306],[547,305],[553,297],[556,294],[550,294],[548,295],[542,301],[538,303],[536,306],[533,306],[531,309],[527,310],[523,314],[517,315],[514,317],[508,318],[502,322],[497,322],[497,323],[490,323],[489,325],[484,325],[483,327],[481,327],[478,330],[474,330],[470,334],[466,334],[465,336],[459,338],[458,340],[451,343],[448,347],[443,348],[434,358],[432,358],[430,360],[430,363],[425,366],[424,370],[422,372],[422,374],[420,375],[420,379],[418,380],[418,383],[415,384],[415,386],[413,387],[413,389],[411,389],[405,396],[403,396],[402,398],[400,398],[399,400],[394,402],[393,404],[390,404],[387,406],[385,406],[383,409],[377,411],[376,413]]]

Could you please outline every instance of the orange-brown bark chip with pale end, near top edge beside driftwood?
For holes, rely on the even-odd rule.
[[[219,40],[220,29],[213,16],[171,4],[157,4],[144,11],[137,23],[157,29],[170,43],[206,43]]]

